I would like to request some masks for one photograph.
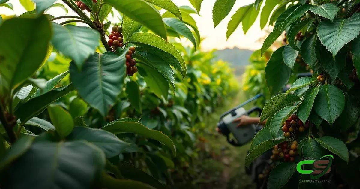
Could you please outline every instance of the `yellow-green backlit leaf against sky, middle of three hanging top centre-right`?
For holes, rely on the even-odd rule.
[[[247,22],[248,19],[252,21],[251,25],[255,22],[257,14],[253,17],[252,12],[258,13],[255,10],[254,4],[246,5],[240,7],[237,12],[231,17],[231,20],[228,24],[228,31],[226,31],[226,38],[229,39],[230,35],[236,30],[241,22],[243,22],[243,30],[244,30],[244,22]],[[249,17],[251,15],[251,17]],[[248,28],[247,28],[248,29]],[[247,30],[244,30],[246,33]]]

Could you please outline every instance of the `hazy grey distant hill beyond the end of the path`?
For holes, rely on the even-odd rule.
[[[224,49],[215,51],[216,60],[224,60],[231,64],[231,67],[235,68],[237,75],[242,75],[244,67],[249,64],[249,58],[253,51],[246,49],[239,49],[237,47],[233,49]]]

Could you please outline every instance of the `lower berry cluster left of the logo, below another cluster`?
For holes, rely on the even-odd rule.
[[[295,161],[294,156],[299,154],[297,152],[297,145],[298,143],[296,140],[294,140],[291,144],[289,141],[284,141],[276,145],[278,148],[279,157],[284,158],[284,161]]]

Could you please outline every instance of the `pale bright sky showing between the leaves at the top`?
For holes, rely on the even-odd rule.
[[[177,6],[188,5],[192,6],[188,0],[172,0]],[[255,0],[238,0],[236,1],[233,9],[229,15],[221,21],[219,25],[214,28],[212,21],[212,8],[216,0],[204,0],[201,4],[200,15],[192,14],[193,18],[197,22],[199,32],[202,38],[201,48],[205,51],[212,49],[226,49],[226,48],[240,48],[240,49],[249,49],[249,50],[258,50],[261,48],[262,41],[264,40],[265,35],[268,33],[267,28],[264,30],[260,29],[260,16],[256,19],[253,26],[249,31],[244,35],[241,24],[235,30],[235,32],[226,40],[226,31],[228,23],[231,19],[231,16],[238,10],[238,8],[253,3]],[[19,0],[10,0],[8,3],[12,3],[14,6],[14,11],[8,8],[0,7],[0,14],[5,15],[20,15],[25,12],[25,9],[19,3]],[[61,3],[58,0],[56,3]],[[64,11],[61,8],[51,8],[48,12],[55,17],[64,15]],[[69,9],[69,15],[75,15],[71,9]]]

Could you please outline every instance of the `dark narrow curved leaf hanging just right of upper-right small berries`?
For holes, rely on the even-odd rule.
[[[318,36],[315,33],[311,37],[306,38],[300,48],[302,59],[311,68],[315,67],[315,62],[316,62],[315,47],[317,40],[318,40]]]

